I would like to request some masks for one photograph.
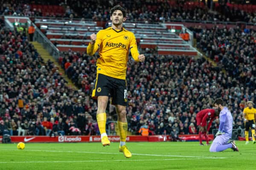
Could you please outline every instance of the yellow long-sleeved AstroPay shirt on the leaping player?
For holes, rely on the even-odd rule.
[[[93,55],[98,48],[97,74],[125,79],[129,50],[134,60],[139,61],[136,38],[125,28],[117,31],[109,27],[99,31],[94,45],[88,45],[87,54]]]

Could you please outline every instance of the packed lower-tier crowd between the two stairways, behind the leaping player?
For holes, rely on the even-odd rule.
[[[213,66],[204,58],[160,56],[150,49],[143,52],[147,54],[144,64],[128,62],[130,131],[138,134],[141,127],[148,126],[151,134],[196,133],[192,130],[196,127],[196,113],[211,108],[216,97],[223,97],[227,102],[233,112],[234,127],[243,127],[241,113],[246,101],[255,101],[256,82],[247,85],[240,74],[222,72],[221,67]],[[90,95],[96,57],[71,51],[63,56],[62,65],[69,77]],[[67,62],[70,62],[68,68]],[[109,115],[114,117],[115,110],[110,108]],[[210,133],[217,127],[218,119]]]

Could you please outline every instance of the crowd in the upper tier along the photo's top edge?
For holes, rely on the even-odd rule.
[[[13,4],[13,5],[12,5]],[[41,8],[32,8],[32,0],[24,1],[2,1],[0,14],[21,15],[29,17],[56,16],[55,11],[43,12]],[[204,3],[186,3],[186,0],[166,1],[166,0],[54,0],[37,1],[42,5],[58,5],[65,8],[63,16],[70,19],[84,17],[86,20],[108,21],[110,8],[116,4],[127,8],[127,18],[129,21],[139,21],[145,23],[168,22],[168,21],[245,21],[256,23],[256,14],[246,12],[238,8],[229,8],[225,3],[218,3],[218,6]],[[96,5],[97,4],[97,5]],[[213,10],[210,10],[210,9]],[[45,14],[44,14],[45,13]]]

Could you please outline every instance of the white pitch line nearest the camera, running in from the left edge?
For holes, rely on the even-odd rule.
[[[115,162],[115,161],[172,161],[172,160],[189,160],[188,159],[137,159],[137,160],[91,160],[91,161],[17,161],[17,162],[0,162],[0,164],[17,164],[17,163],[76,163],[76,162]],[[193,158],[193,159],[222,159],[222,158]]]

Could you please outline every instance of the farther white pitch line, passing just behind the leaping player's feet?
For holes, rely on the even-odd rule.
[[[18,151],[18,150],[16,150]],[[24,150],[25,151],[25,150]],[[120,153],[107,153],[107,152],[84,152],[84,151],[62,151],[62,150],[26,150],[33,152],[60,152],[60,153],[95,153],[95,154],[120,154]],[[166,157],[183,157],[183,158],[209,158],[209,159],[225,159],[224,157],[204,157],[204,156],[180,156],[180,155],[154,155],[154,154],[143,154],[143,153],[132,153],[132,155],[139,156],[166,156]]]

